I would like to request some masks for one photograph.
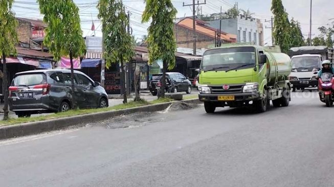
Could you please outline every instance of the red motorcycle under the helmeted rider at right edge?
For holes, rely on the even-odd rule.
[[[319,96],[320,101],[326,103],[327,107],[334,102],[334,78],[331,73],[323,73],[319,78]]]

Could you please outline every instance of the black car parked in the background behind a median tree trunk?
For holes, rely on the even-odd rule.
[[[162,74],[153,74],[150,84],[149,90],[153,96],[157,96],[157,86],[161,86],[162,84]],[[191,93],[191,82],[182,74],[174,73],[174,72],[167,72],[166,73],[166,83],[169,87],[166,88],[168,92],[179,92],[179,91],[186,91],[187,93]]]

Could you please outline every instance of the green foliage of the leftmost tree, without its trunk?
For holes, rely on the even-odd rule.
[[[0,55],[16,55],[15,43],[18,43],[16,28],[18,22],[11,11],[13,0],[0,1]]]

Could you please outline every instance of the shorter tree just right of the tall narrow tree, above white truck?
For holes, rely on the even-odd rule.
[[[304,36],[301,32],[300,25],[298,21],[295,21],[294,18],[290,21],[290,48],[299,47],[305,45]]]

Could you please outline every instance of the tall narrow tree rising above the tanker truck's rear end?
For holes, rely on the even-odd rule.
[[[273,0],[271,11],[274,14],[274,40],[276,45],[280,45],[283,53],[287,53],[290,49],[290,23],[287,13],[281,0]]]

